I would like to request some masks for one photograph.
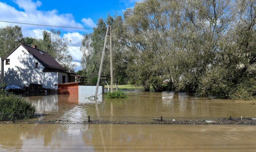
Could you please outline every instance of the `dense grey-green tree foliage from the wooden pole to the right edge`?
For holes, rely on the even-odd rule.
[[[99,19],[98,26],[112,25],[116,83],[253,99],[255,11],[251,0],[145,0],[126,9],[123,18]],[[104,35],[88,41],[89,75],[98,72]],[[106,54],[103,71],[109,74],[108,48]]]

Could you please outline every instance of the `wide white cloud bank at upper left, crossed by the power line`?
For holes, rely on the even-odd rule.
[[[24,0],[23,0],[24,1]],[[4,21],[13,21],[13,22],[25,22],[32,24],[42,24],[42,25],[54,25],[54,26],[72,26],[72,27],[83,27],[82,24],[77,23],[73,19],[72,14],[59,14],[57,10],[41,11],[37,10],[37,7],[40,6],[40,2],[32,2],[30,0],[25,1],[25,6],[20,4],[22,1],[15,1],[19,7],[23,8],[25,11],[16,10],[14,7],[7,5],[6,3],[0,2],[1,16],[0,19]],[[16,25],[14,23],[8,23],[8,25]],[[44,26],[35,26],[35,25],[24,25],[19,24],[22,29],[31,29],[39,28]],[[54,27],[44,27],[48,29],[60,29]],[[62,28],[64,31],[74,31],[78,29],[68,29]]]

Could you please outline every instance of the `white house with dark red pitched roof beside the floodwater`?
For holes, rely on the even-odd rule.
[[[5,58],[0,58],[1,78],[10,85],[41,84],[43,88],[57,89],[55,84],[75,82],[81,77],[67,72],[47,52],[19,44]]]

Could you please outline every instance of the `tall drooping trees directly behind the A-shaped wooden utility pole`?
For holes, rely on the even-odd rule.
[[[81,60],[82,68],[86,69],[87,77],[92,80],[98,75],[102,49],[105,40],[105,30],[107,25],[112,26],[112,48],[113,48],[113,80],[115,84],[126,84],[126,60],[124,54],[124,37],[123,33],[123,20],[121,16],[108,16],[106,20],[99,19],[97,22],[97,29],[90,34],[85,33],[83,43],[80,48],[83,56]],[[107,40],[105,50],[105,57],[103,60],[102,74],[110,76],[110,44],[109,37]],[[90,81],[89,81],[90,82]],[[108,80],[106,80],[108,83]]]

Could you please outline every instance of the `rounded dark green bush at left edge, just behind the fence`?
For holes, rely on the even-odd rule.
[[[0,92],[0,121],[22,119],[33,116],[36,112],[35,106],[27,99],[12,93]],[[20,115],[21,114],[21,115]]]

